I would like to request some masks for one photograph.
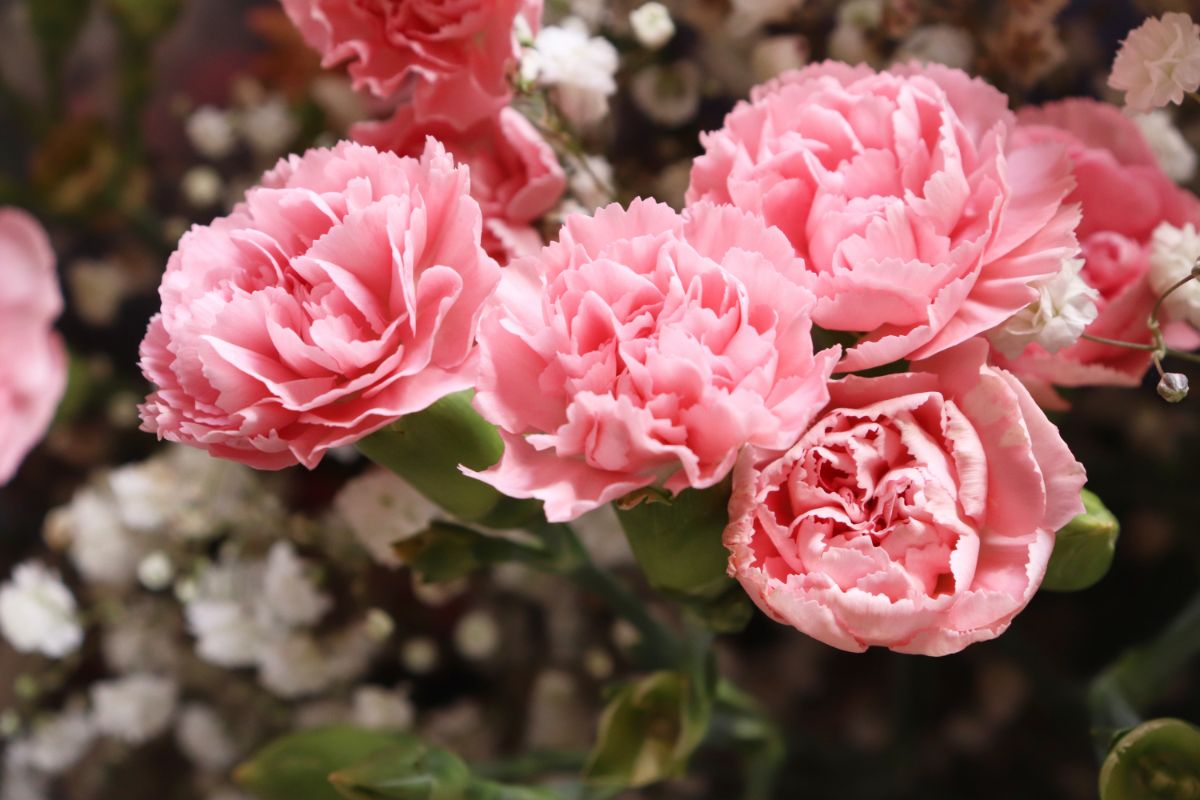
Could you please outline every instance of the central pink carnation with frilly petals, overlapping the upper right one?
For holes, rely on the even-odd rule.
[[[475,405],[504,457],[478,475],[572,519],[637,488],[708,487],[782,451],[827,398],[787,240],[731,207],[636,200],[574,216],[510,265],[480,324]]]

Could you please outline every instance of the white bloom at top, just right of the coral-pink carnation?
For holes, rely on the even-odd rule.
[[[521,74],[551,89],[558,109],[571,124],[586,127],[608,113],[608,96],[617,91],[619,56],[612,42],[590,36],[577,17],[538,32],[534,47],[521,59]]]

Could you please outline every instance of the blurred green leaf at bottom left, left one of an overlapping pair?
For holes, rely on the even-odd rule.
[[[348,726],[316,728],[276,739],[234,771],[234,780],[259,800],[341,800],[330,774],[372,756],[413,747],[406,734]]]

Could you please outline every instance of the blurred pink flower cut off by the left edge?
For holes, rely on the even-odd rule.
[[[62,312],[54,251],[19,209],[0,207],[0,485],[54,419],[67,359],[53,324]]]

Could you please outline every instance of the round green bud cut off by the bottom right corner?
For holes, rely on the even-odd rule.
[[[1100,768],[1100,800],[1200,798],[1200,729],[1151,720],[1121,736]]]

